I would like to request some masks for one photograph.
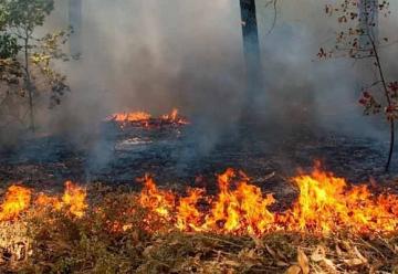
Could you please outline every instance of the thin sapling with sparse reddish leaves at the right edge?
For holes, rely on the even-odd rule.
[[[318,56],[350,57],[354,60],[368,60],[377,73],[374,83],[367,84],[363,91],[359,103],[365,107],[365,114],[378,114],[384,110],[389,124],[389,150],[385,170],[390,168],[395,147],[395,120],[398,118],[398,83],[388,82],[385,73],[385,61],[380,51],[388,45],[388,38],[378,38],[378,17],[383,12],[386,17],[390,13],[389,2],[383,0],[342,0],[336,6],[326,6],[326,13],[335,15],[343,24],[343,30],[337,32],[336,44],[333,49],[321,48]],[[353,25],[354,24],[354,25]],[[383,95],[384,102],[378,99]]]

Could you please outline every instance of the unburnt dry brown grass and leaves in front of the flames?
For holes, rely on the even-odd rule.
[[[82,219],[31,209],[1,223],[0,273],[398,273],[398,235],[181,233],[144,222],[125,190],[91,193]]]

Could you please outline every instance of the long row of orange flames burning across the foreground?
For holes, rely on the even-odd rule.
[[[283,212],[272,212],[276,201],[272,194],[250,183],[243,172],[228,169],[218,177],[219,192],[207,196],[203,189],[189,189],[180,197],[159,189],[150,176],[144,178],[138,196],[148,210],[146,222],[153,217],[185,232],[210,232],[234,235],[263,235],[273,231],[331,233],[387,233],[398,229],[398,196],[373,194],[367,186],[348,186],[343,178],[323,171],[318,166],[312,173],[292,178],[298,198]],[[39,207],[66,209],[73,217],[84,217],[88,205],[86,191],[66,182],[62,198],[39,194]],[[12,186],[1,204],[0,221],[19,218],[32,203],[31,190]],[[134,211],[134,209],[132,210]],[[128,230],[132,224],[119,225]]]

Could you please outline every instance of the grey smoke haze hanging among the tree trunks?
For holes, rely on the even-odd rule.
[[[67,23],[65,2],[59,1],[55,25]],[[266,129],[270,123],[290,128],[306,120],[379,136],[357,106],[362,66],[316,60],[320,46],[333,45],[336,29],[324,2],[280,1],[270,34],[274,11],[256,2],[263,82],[249,117],[264,130],[273,130]],[[392,29],[397,19],[389,22]],[[178,107],[192,120],[200,154],[235,133],[248,112],[238,0],[85,0],[81,33],[82,59],[65,67],[72,93],[46,123],[77,141],[88,135],[95,151],[103,150],[98,125],[114,112],[160,115]]]

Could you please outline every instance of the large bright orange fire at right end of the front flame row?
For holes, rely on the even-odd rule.
[[[317,166],[311,175],[294,178],[300,196],[287,212],[287,229],[329,232],[395,231],[398,228],[398,197],[375,197],[367,186],[349,187],[344,178]]]

